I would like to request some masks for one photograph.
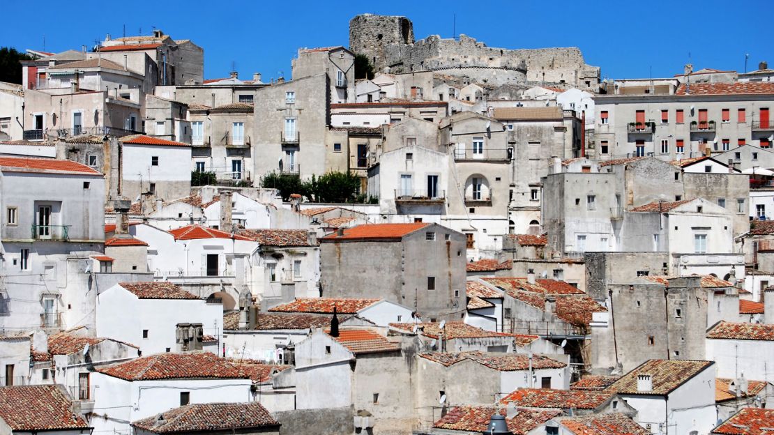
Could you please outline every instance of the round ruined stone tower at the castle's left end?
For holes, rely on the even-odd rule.
[[[357,15],[349,21],[349,50],[365,54],[375,71],[389,67],[385,46],[414,43],[414,26],[405,16]]]

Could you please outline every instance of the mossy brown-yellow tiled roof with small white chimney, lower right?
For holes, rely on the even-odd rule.
[[[645,361],[639,367],[623,375],[604,391],[618,392],[620,394],[665,396],[711,365],[713,365],[712,361],[652,359]],[[653,385],[651,391],[640,392],[637,390],[638,375],[650,375]]]

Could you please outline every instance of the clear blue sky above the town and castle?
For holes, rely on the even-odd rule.
[[[122,36],[124,25],[127,36],[156,26],[204,48],[205,78],[228,76],[232,62],[240,77],[260,72],[267,81],[279,71],[289,77],[299,47],[348,46],[349,19],[365,12],[408,16],[417,39],[452,36],[456,13],[457,34],[488,46],[578,46],[603,78],[672,76],[689,53],[694,69],[741,72],[745,53],[748,70],[760,60],[774,64],[772,3],[765,0],[3,3],[0,46],[43,50],[45,36],[46,51],[80,50],[107,33]]]

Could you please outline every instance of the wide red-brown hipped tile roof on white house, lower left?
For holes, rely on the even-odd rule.
[[[146,381],[150,379],[183,378],[225,378],[246,379],[245,374],[236,365],[224,358],[218,358],[211,352],[199,351],[190,354],[165,353],[136,358],[132,361],[94,368],[104,375],[127,381]]]

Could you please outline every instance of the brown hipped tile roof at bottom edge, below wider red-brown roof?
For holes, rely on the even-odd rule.
[[[276,426],[279,422],[259,402],[197,403],[170,409],[132,423],[150,433],[243,432],[251,428]]]

